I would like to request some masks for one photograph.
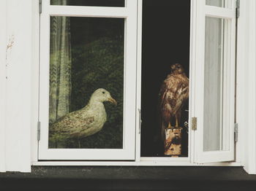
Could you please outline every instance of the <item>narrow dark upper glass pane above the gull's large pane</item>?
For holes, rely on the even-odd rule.
[[[124,7],[124,0],[50,0],[51,5]]]

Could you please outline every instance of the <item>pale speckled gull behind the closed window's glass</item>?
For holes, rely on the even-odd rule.
[[[50,139],[59,141],[60,139],[80,138],[91,136],[103,128],[107,120],[107,114],[103,102],[110,101],[116,105],[110,93],[99,88],[91,95],[89,103],[78,111],[66,114],[50,125]]]

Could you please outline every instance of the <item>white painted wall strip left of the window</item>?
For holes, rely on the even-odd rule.
[[[0,2],[0,171],[31,171],[32,1]]]

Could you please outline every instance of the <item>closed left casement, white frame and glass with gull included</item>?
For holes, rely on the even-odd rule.
[[[40,21],[39,160],[135,160],[137,1],[43,0]]]

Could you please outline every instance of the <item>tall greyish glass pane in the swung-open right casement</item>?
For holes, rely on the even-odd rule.
[[[222,150],[224,20],[206,17],[203,151]]]

